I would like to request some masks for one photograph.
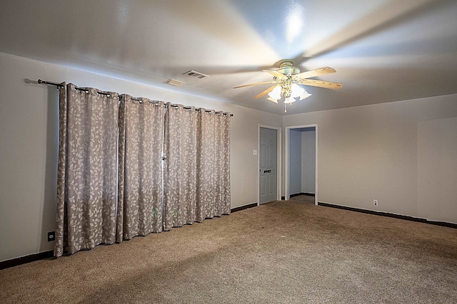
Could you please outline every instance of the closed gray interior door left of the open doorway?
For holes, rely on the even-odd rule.
[[[276,201],[278,191],[278,172],[276,172],[276,145],[276,130],[261,127],[259,145],[260,150],[258,153],[260,169],[258,177],[260,186],[259,204]]]

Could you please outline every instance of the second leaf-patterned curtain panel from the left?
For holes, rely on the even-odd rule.
[[[163,102],[121,95],[116,241],[162,231]]]

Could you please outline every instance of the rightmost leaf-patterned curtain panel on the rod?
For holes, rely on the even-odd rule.
[[[230,214],[230,115],[201,109],[196,220]]]

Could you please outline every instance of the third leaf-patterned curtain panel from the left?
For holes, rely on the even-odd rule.
[[[196,221],[200,112],[168,104],[164,135],[164,230]]]

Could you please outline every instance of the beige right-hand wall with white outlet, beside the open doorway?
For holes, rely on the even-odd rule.
[[[318,201],[457,223],[457,95],[284,117],[318,125]],[[378,199],[378,206],[373,206]]]

